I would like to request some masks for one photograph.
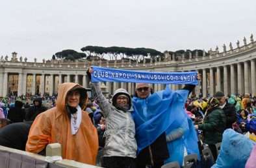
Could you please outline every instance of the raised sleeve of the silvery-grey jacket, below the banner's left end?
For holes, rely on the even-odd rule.
[[[102,94],[98,82],[90,83],[90,87],[92,89],[92,96],[94,100],[97,101],[97,104],[99,105],[100,109],[103,110],[105,118],[107,118],[111,111],[111,105],[109,103],[109,100],[107,100],[105,96]]]

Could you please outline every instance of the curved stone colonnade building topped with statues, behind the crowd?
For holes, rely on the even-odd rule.
[[[131,63],[131,61],[75,61],[65,62],[64,60],[45,61],[37,63],[27,62],[27,58],[17,59],[17,53],[12,53],[12,58],[8,56],[0,59],[0,96],[6,96],[12,92],[18,95],[31,94],[57,94],[58,84],[64,82],[75,82],[89,88],[86,69],[90,65],[108,68],[122,68],[129,70],[142,70],[153,72],[186,72],[198,71],[202,75],[202,80],[194,94],[207,96],[213,95],[218,90],[229,94],[256,94],[256,43],[251,36],[251,43],[246,43],[242,47],[237,44],[233,48],[230,43],[229,48],[224,47],[223,52],[219,52],[218,47],[215,51],[210,50],[202,57],[189,56],[189,59],[182,57],[175,61],[173,57],[165,55],[164,61],[153,61],[150,63]],[[134,94],[135,83],[101,83],[101,88],[106,94],[113,94],[118,88],[125,88],[130,94]],[[171,85],[173,90],[181,89],[183,85]],[[155,91],[164,89],[162,84],[153,84]]]

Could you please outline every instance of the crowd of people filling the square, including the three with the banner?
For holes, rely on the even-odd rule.
[[[98,154],[102,167],[157,168],[183,165],[185,153],[201,158],[198,134],[214,160],[226,129],[256,134],[256,95],[198,98],[188,97],[195,85],[154,93],[149,83],[136,83],[134,95],[117,89],[107,99],[99,83],[90,87],[92,98],[77,83],[62,83],[53,97],[1,98],[0,118],[10,124],[0,129],[0,145],[44,155],[47,144],[60,143],[69,160],[95,165]]]

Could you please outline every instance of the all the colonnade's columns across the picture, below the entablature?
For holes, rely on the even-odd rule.
[[[221,65],[218,67],[207,67],[196,69],[201,74],[201,81],[196,89],[193,91],[197,96],[202,94],[204,97],[207,95],[214,95],[214,92],[222,90],[224,94],[256,94],[256,76],[255,76],[255,59],[248,61],[233,63],[231,65]],[[18,75],[18,95],[25,95],[27,93],[27,77],[32,76],[32,94],[40,93],[44,95],[46,92],[45,86],[49,85],[47,93],[53,95],[58,91],[58,84],[63,82],[75,82],[83,85],[83,87],[90,88],[88,77],[85,74],[44,74],[44,73],[25,73],[25,72],[4,72],[0,73],[0,96],[8,94],[8,76],[10,74]],[[36,77],[40,76],[40,82],[36,81]],[[46,77],[47,83],[46,83]],[[39,86],[39,90],[38,87]],[[105,82],[105,92],[113,94],[114,90],[122,87],[127,89],[129,94],[134,94],[135,83],[113,83]],[[164,89],[165,85],[152,84],[154,91]],[[181,89],[183,85],[170,85],[173,90]],[[37,89],[37,90],[36,90]]]

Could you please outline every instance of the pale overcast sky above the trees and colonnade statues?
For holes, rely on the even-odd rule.
[[[256,39],[255,0],[1,0],[0,56],[51,59],[87,45],[222,51]]]

